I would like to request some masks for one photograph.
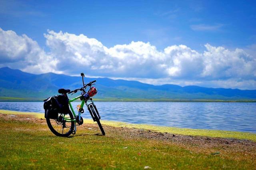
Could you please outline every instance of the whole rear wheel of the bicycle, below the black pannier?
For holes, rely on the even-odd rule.
[[[47,125],[56,136],[68,137],[74,131],[74,121],[66,121],[64,117],[73,120],[71,112],[68,114],[58,113],[57,119],[46,119]]]

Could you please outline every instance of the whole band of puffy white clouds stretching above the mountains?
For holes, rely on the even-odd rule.
[[[108,48],[83,34],[50,30],[44,37],[50,48],[48,53],[26,35],[18,36],[13,31],[1,29],[0,66],[32,73],[51,71],[74,75],[84,72],[90,76],[137,79],[147,83],[203,85],[215,82],[221,87],[220,84],[224,86],[232,82],[231,87],[242,88],[243,82],[247,82],[246,87],[250,82],[254,84],[250,88],[256,88],[256,57],[243,49],[231,51],[206,44],[203,53],[186,45],[172,45],[160,51],[149,42],[131,42]]]

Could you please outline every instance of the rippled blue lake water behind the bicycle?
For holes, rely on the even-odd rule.
[[[73,107],[80,103],[74,102]],[[103,120],[256,133],[256,103],[95,102]],[[0,102],[0,109],[44,113],[43,102]],[[90,118],[88,111],[82,114]]]

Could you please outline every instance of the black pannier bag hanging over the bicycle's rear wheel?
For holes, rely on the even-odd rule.
[[[65,95],[52,96],[44,100],[44,117],[57,119],[58,113],[68,114],[68,97]]]

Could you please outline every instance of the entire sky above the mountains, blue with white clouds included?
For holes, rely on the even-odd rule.
[[[256,1],[0,4],[0,67],[256,89]]]

